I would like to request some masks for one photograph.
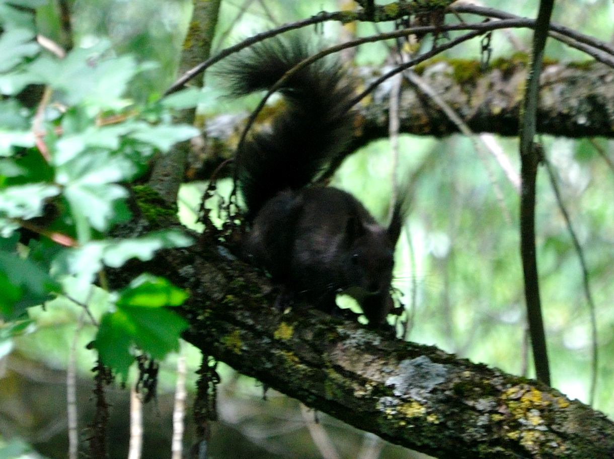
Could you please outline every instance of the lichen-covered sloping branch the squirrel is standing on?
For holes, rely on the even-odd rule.
[[[190,291],[185,338],[204,353],[391,442],[439,458],[614,457],[614,423],[599,412],[357,323],[282,314],[266,280],[211,241],[146,269]]]

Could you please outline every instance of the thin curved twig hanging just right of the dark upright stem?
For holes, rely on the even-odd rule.
[[[595,401],[595,391],[597,387],[597,369],[599,368],[598,361],[598,350],[597,350],[597,317],[595,311],[595,303],[593,301],[593,295],[591,294],[591,287],[588,280],[588,268],[586,267],[586,258],[584,256],[584,250],[580,245],[580,241],[578,241],[578,237],[573,231],[572,221],[569,217],[569,212],[565,208],[565,204],[563,203],[563,199],[561,197],[561,191],[559,191],[559,185],[556,180],[556,176],[554,175],[554,171],[550,161],[546,158],[546,155],[543,155],[542,161],[546,166],[546,171],[548,171],[548,177],[550,177],[550,184],[552,185],[552,190],[554,191],[554,196],[556,196],[556,202],[559,206],[559,210],[561,210],[561,214],[563,218],[565,218],[565,224],[567,225],[567,231],[569,231],[569,236],[572,238],[573,247],[578,254],[578,261],[580,261],[580,268],[582,269],[582,284],[584,287],[584,294],[586,296],[586,303],[588,304],[589,314],[591,315],[591,332],[593,334],[593,362],[591,368],[591,387],[589,391],[589,405],[593,406]]]

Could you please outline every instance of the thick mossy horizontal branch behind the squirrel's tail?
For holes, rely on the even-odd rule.
[[[518,115],[524,96],[527,56],[498,59],[488,71],[478,61],[433,60],[416,71],[441,98],[457,110],[475,133],[518,135]],[[368,84],[386,69],[360,69]],[[537,132],[564,137],[614,137],[614,70],[599,63],[545,62],[541,76]],[[391,85],[382,85],[358,108],[360,122],[352,149],[388,135]],[[274,115],[276,110],[269,110]],[[435,102],[404,83],[400,104],[400,132],[446,136],[458,132]],[[263,120],[266,116],[261,116]],[[208,122],[208,158],[201,177],[234,151],[245,115],[222,115]]]

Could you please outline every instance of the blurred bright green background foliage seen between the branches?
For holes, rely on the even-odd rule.
[[[223,0],[212,53],[271,26],[305,18],[320,10],[336,10],[341,3]],[[535,17],[538,2],[489,0],[485,3]],[[191,7],[187,0],[76,0],[72,4],[75,42],[91,45],[109,39],[118,55],[130,53],[139,61],[158,63],[156,69],[143,72],[131,87],[131,96],[136,99],[156,98],[176,77]],[[43,33],[61,42],[56,18],[55,2],[52,2],[39,10],[37,21]],[[553,21],[609,42],[614,32],[614,6],[609,0],[559,1]],[[341,26],[334,23],[325,24],[323,29],[328,41],[335,41],[341,33]],[[378,25],[379,31],[388,29],[391,26]],[[361,24],[356,33],[373,34],[376,30],[373,25]],[[518,46],[528,50],[530,33],[497,32],[492,46],[492,58],[509,56]],[[446,56],[479,59],[479,50],[479,42],[472,41],[454,48]],[[387,54],[387,48],[381,43],[365,45],[358,50],[356,63],[379,66],[384,64]],[[548,42],[546,56],[561,61],[586,59],[554,41]],[[204,104],[204,115],[244,110],[244,101],[214,99],[223,93],[223,82],[212,77],[210,86],[213,88],[211,100]],[[518,170],[517,139],[494,137],[494,140]],[[544,137],[542,141],[588,261],[600,352],[594,407],[612,418],[614,173],[599,150],[612,158],[614,144],[607,139]],[[384,220],[391,194],[391,158],[389,141],[373,142],[345,161],[332,184],[351,191],[377,218]],[[403,177],[418,173],[411,183],[404,183],[413,200],[408,225],[397,247],[394,285],[403,292],[405,318],[410,319],[408,339],[532,377],[519,258],[518,195],[497,163],[492,158],[488,161],[495,171],[494,177],[488,176],[472,143],[460,135],[444,139],[401,136],[398,179],[404,183]],[[502,188],[502,203],[495,197],[492,180]],[[220,183],[222,192],[225,186]],[[194,221],[194,209],[202,189],[202,183],[188,183],[181,190],[180,215],[187,225]],[[510,211],[511,221],[503,216],[502,205]],[[540,171],[538,180],[537,234],[553,385],[571,398],[586,402],[591,377],[589,311],[578,257],[544,170]],[[81,310],[68,301],[55,300],[45,309],[33,308],[34,323],[18,338],[2,344],[0,431],[5,440],[3,443],[0,439],[0,459],[18,457],[15,451],[20,449],[21,457],[28,454],[37,457],[28,453],[27,443],[47,457],[66,455],[63,369],[75,340],[80,370],[80,427],[91,419],[88,398],[95,355],[85,345],[95,330],[82,325]],[[94,312],[99,315],[102,311]],[[188,344],[184,353],[189,366],[188,390],[193,391],[193,371],[200,363],[200,353]],[[156,453],[168,457],[175,360],[176,357],[171,357],[161,364],[160,395],[146,407],[144,457],[158,457]],[[258,382],[236,374],[223,364],[219,369],[222,376],[220,422],[212,436],[212,457],[322,457],[311,440],[309,427],[313,428],[313,413],[301,414],[296,401],[273,391],[268,391],[268,400],[264,401],[263,388]],[[128,398],[127,390],[112,391],[113,458],[126,456]],[[421,457],[325,415],[318,417],[317,426],[324,428],[338,457]],[[188,415],[188,434],[189,422]],[[20,438],[26,443],[21,443]],[[2,449],[3,445],[9,447]]]

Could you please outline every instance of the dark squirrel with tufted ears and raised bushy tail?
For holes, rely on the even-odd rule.
[[[311,55],[301,35],[259,42],[223,67],[233,96],[265,90]],[[355,298],[369,326],[391,312],[394,247],[401,206],[384,228],[346,191],[315,182],[351,141],[354,88],[339,63],[319,60],[279,89],[286,102],[270,128],[236,152],[236,179],[249,231],[243,250],[290,295],[335,314],[335,298]],[[337,163],[340,161],[336,161]]]

